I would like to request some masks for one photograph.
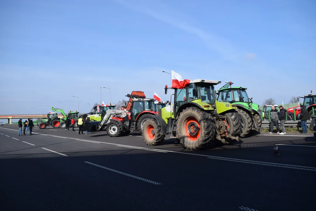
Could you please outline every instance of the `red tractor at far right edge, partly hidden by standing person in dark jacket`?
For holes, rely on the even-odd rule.
[[[308,111],[307,119],[310,120],[311,116],[316,113],[315,112],[315,110],[316,110],[316,94],[313,94],[313,90],[311,90],[311,94],[304,95],[304,97],[298,97],[298,100],[299,100],[299,98],[304,98],[303,105]],[[294,120],[294,109],[295,109],[296,120],[300,119],[299,114],[301,114],[301,106],[298,105],[298,106],[286,109],[287,114],[289,114],[288,120]]]

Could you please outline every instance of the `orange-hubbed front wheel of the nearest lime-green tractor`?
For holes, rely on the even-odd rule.
[[[162,144],[165,135],[162,135],[161,126],[155,119],[148,119],[143,124],[143,139],[147,145]]]

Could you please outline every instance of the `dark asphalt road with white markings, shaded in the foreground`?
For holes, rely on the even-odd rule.
[[[78,129],[76,129],[78,130]],[[0,126],[1,210],[314,210],[314,137],[258,134],[190,151],[138,133],[111,138]],[[309,134],[308,134],[309,135]],[[273,154],[273,145],[281,155]],[[58,154],[59,153],[59,154]]]

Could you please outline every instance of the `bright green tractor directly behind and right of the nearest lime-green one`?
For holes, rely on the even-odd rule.
[[[232,82],[228,82],[218,90],[217,101],[232,103],[237,106],[243,127],[241,137],[244,137],[251,130],[260,131],[262,120],[259,105],[252,103],[252,98],[247,95],[247,88],[232,87],[232,84]]]

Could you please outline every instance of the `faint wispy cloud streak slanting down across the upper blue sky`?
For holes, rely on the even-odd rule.
[[[224,57],[230,57],[234,53],[234,48],[227,39],[207,33],[198,27],[191,26],[185,20],[181,20],[181,18],[175,17],[177,15],[183,16],[183,15],[180,15],[178,11],[174,11],[173,9],[170,9],[166,5],[163,5],[162,3],[159,3],[156,1],[150,2],[150,4],[148,2],[143,2],[143,1],[142,2],[123,1],[123,0],[114,0],[114,1],[127,8],[136,10],[140,13],[150,15],[176,28],[179,28],[181,30],[184,30],[186,32],[196,35],[197,37],[201,38],[204,41],[207,48],[219,53],[220,55]],[[172,15],[169,15],[167,13],[172,14]]]

